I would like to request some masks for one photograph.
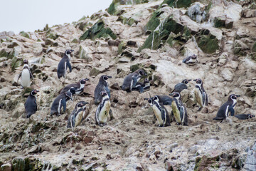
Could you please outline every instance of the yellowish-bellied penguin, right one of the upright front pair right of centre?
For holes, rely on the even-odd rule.
[[[174,97],[171,103],[172,113],[178,125],[188,125],[188,113],[181,101],[181,94],[178,92],[170,93]]]

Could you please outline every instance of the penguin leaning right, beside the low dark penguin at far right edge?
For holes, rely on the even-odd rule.
[[[235,105],[237,103],[237,98],[240,97],[240,95],[232,94],[228,96],[228,101],[220,106],[220,109],[218,110],[218,113],[213,120],[225,120],[228,118],[228,115],[230,113],[231,116],[235,115]]]

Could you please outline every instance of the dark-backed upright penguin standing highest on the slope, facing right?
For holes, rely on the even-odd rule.
[[[65,78],[65,72],[67,71],[67,69],[69,68],[70,73],[72,71],[72,67],[70,64],[70,58],[71,58],[71,53],[74,50],[66,50],[64,53],[63,58],[61,58],[60,62],[58,63],[58,69],[57,69],[57,76],[60,79],[60,77]]]

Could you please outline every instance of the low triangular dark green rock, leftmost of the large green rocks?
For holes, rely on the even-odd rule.
[[[90,38],[94,41],[96,38],[101,37],[113,39],[117,38],[117,36],[114,34],[111,28],[107,27],[102,19],[97,21],[95,25],[93,25],[91,28],[85,31],[85,33],[83,33],[82,36],[80,36],[80,40]]]

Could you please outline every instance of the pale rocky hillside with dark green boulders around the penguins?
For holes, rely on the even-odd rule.
[[[228,95],[240,94],[235,113],[256,114],[256,2],[114,0],[107,11],[73,24],[33,33],[0,35],[0,170],[256,170],[256,121],[212,120]],[[73,71],[58,80],[57,66],[72,48]],[[181,63],[196,54],[199,63]],[[17,83],[23,59],[34,80]],[[119,90],[128,73],[144,68],[151,81],[145,93]],[[114,120],[95,125],[94,88],[109,80]],[[89,78],[84,95],[68,102],[67,113],[50,117],[58,90]],[[193,83],[182,92],[188,126],[158,128],[144,101],[168,95],[184,78],[201,78],[208,108],[193,107]],[[24,118],[32,88],[38,112]],[[67,129],[68,115],[85,100],[87,119]],[[170,111],[170,110],[169,110]]]

